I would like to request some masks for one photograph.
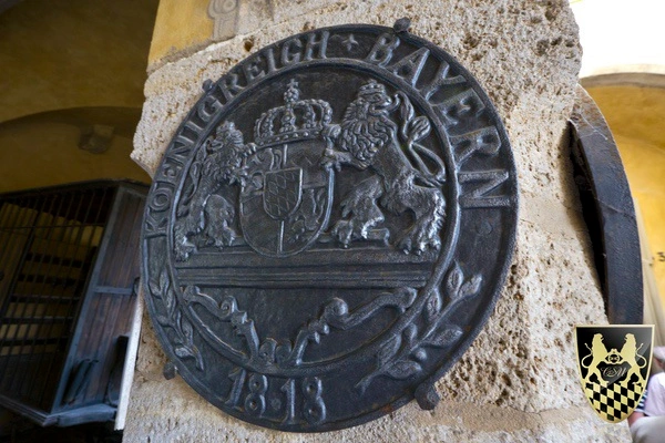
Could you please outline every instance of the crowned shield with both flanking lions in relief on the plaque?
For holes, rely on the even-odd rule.
[[[442,159],[419,142],[431,132],[406,94],[370,80],[332,122],[329,103],[300,99],[291,79],[285,104],[255,122],[246,143],[233,121],[217,126],[196,154],[174,225],[174,253],[185,261],[206,247],[249,246],[287,257],[315,245],[375,244],[420,255],[441,247],[446,215]],[[336,174],[364,178],[338,189]],[[401,229],[383,225],[402,217]]]

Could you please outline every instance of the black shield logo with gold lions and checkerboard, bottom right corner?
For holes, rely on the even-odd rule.
[[[653,326],[577,326],[575,332],[586,400],[603,420],[625,420],[646,389]]]

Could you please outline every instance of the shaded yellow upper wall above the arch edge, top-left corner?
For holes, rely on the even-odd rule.
[[[157,0],[30,0],[0,14],[0,122],[143,104]]]

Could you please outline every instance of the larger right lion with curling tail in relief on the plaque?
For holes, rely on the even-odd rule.
[[[399,107],[401,126],[390,114]],[[366,239],[369,230],[383,222],[381,208],[400,215],[410,212],[413,223],[395,241],[406,253],[439,249],[446,215],[441,190],[444,165],[440,157],[417,142],[429,134],[430,122],[415,117],[409,99],[401,92],[393,97],[371,80],[344,114],[340,125],[326,130],[328,148],[323,165],[340,169],[351,165],[375,174],[356,185],[341,202],[341,217],[331,234],[345,247]]]

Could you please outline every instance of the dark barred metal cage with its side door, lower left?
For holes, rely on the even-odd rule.
[[[41,425],[112,420],[147,187],[0,195],[0,404]]]

